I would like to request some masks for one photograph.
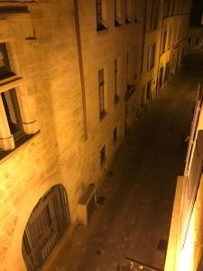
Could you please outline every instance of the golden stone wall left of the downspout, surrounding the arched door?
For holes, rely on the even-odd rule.
[[[64,185],[71,220],[76,220],[88,172],[73,3],[26,5],[30,14],[7,14],[0,20],[0,35],[15,73],[23,78],[18,98],[40,132],[0,161],[0,270],[25,270],[23,230],[52,185]]]

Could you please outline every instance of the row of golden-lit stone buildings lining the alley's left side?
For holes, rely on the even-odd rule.
[[[182,4],[0,1],[0,270],[39,270],[87,222],[117,148],[180,69]]]

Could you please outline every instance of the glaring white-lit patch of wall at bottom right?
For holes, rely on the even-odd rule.
[[[178,271],[192,271],[195,253],[195,208],[189,224],[184,248],[180,251]]]

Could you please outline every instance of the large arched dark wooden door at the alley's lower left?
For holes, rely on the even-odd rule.
[[[68,226],[67,194],[63,186],[58,184],[38,201],[25,226],[22,253],[27,270],[41,270]]]

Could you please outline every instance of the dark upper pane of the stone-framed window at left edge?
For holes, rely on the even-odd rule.
[[[13,75],[14,72],[12,72],[10,67],[5,43],[0,43],[0,79],[6,79]]]

